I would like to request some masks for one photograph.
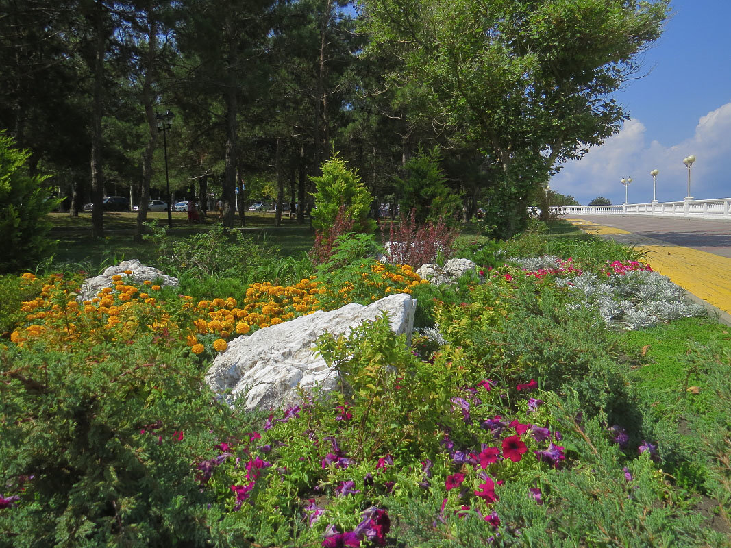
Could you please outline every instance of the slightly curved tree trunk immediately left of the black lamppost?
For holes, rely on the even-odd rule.
[[[152,92],[154,82],[154,71],[156,65],[157,50],[157,20],[153,12],[152,2],[147,4],[147,57],[145,59],[145,80],[142,87],[142,104],[145,108],[145,119],[150,131],[147,145],[142,154],[142,183],[140,189],[140,210],[137,212],[137,227],[135,229],[135,242],[142,241],[145,231],[143,223],[147,221],[147,208],[150,199],[150,180],[152,179],[152,155],[157,145],[157,121],[155,120],[154,102],[155,96]],[[172,207],[172,204],[168,204]]]

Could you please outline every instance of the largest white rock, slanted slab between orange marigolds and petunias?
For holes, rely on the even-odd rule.
[[[367,306],[352,302],[336,311],[317,311],[235,338],[213,360],[205,381],[227,403],[245,397],[246,409],[292,405],[298,400],[298,386],[305,392],[315,386],[336,389],[337,370],[314,353],[315,340],[325,332],[347,335],[384,311],[393,332],[410,339],[416,300],[408,294],[389,295]]]

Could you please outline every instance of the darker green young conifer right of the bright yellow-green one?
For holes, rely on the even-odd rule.
[[[461,211],[460,196],[447,185],[447,178],[439,167],[440,159],[439,148],[424,151],[420,147],[417,155],[404,164],[405,177],[395,178],[401,194],[401,211],[414,210],[417,224],[439,220],[455,224],[455,215]]]

